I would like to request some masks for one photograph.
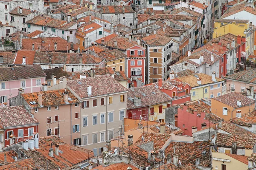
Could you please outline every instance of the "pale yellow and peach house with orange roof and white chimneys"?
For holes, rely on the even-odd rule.
[[[189,76],[177,77],[176,80],[186,82],[190,85],[192,101],[220,96],[222,94],[222,83],[224,83],[224,79],[215,77],[214,72],[212,73],[212,76],[207,74],[192,74]]]

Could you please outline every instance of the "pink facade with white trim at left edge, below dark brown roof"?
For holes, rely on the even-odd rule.
[[[41,82],[39,81],[39,79],[41,80]],[[24,85],[23,81],[25,81],[23,93],[38,92],[41,89],[41,83],[45,81],[45,77],[0,82],[0,102],[2,103],[0,107],[3,107],[5,105],[4,103],[7,103],[7,106],[9,106],[8,99],[18,95],[18,89],[22,88],[22,86]]]

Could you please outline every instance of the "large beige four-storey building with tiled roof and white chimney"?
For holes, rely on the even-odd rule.
[[[67,81],[67,88],[81,100],[81,146],[103,151],[106,140],[120,136],[126,116],[127,89],[111,75]]]

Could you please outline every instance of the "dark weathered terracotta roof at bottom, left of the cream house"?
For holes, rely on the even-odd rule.
[[[166,157],[168,154],[172,156],[174,153],[179,154],[179,160],[182,165],[195,164],[195,159],[200,158],[201,160],[209,160],[209,142],[207,141],[194,141],[190,142],[171,142],[165,149]],[[206,151],[205,154],[202,154]],[[172,160],[173,162],[173,160]]]

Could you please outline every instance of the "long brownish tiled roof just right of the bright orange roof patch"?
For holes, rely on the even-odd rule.
[[[35,53],[34,63],[45,63],[49,64],[49,56],[51,55],[52,61],[51,64],[80,64],[80,65],[97,65],[104,59],[93,56],[90,54],[82,53],[82,61],[80,63],[80,54],[79,53],[57,53],[57,52],[44,52],[37,51]]]

